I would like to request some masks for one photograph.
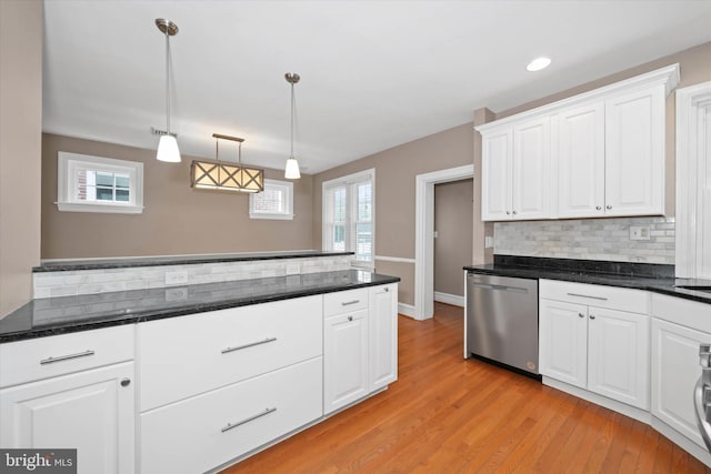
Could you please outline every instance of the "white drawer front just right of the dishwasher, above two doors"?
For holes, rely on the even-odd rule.
[[[642,290],[541,280],[538,291],[539,296],[547,300],[567,301],[631,313],[649,313],[649,293]]]

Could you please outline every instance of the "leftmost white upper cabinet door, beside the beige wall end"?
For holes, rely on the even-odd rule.
[[[481,219],[511,219],[511,171],[513,131],[511,128],[482,135]]]

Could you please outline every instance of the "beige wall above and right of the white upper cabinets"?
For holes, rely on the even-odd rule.
[[[711,28],[711,27],[710,27]],[[698,84],[711,80],[711,42],[699,44],[694,48],[690,48],[678,53],[647,62],[641,65],[637,65],[631,69],[618,72],[612,75],[608,75],[602,79],[598,79],[592,82],[588,82],[582,85],[578,85],[573,89],[569,89],[555,94],[535,100],[533,102],[524,103],[522,105],[509,109],[497,113],[497,119],[512,115],[514,113],[523,112],[525,110],[534,109],[537,107],[544,105],[550,102],[554,102],[561,99],[565,99],[582,92],[590,91],[603,85],[611,84],[624,79],[632,78],[634,75],[643,74],[655,69],[663,68],[665,65],[679,63],[681,72],[681,81],[679,88],[685,88],[689,85]],[[665,186],[665,202],[667,202],[667,215],[672,216],[674,212],[675,203],[675,93],[669,94],[667,98],[667,186]]]

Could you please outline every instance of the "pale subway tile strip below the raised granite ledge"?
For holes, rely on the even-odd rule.
[[[34,299],[172,286],[166,284],[166,273],[173,272],[187,273],[186,284],[287,276],[296,273],[336,272],[349,270],[352,259],[352,255],[333,255],[313,259],[41,272],[33,274]]]

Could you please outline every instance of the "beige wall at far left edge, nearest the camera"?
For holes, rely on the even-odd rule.
[[[32,296],[40,259],[42,2],[0,0],[0,317]]]

